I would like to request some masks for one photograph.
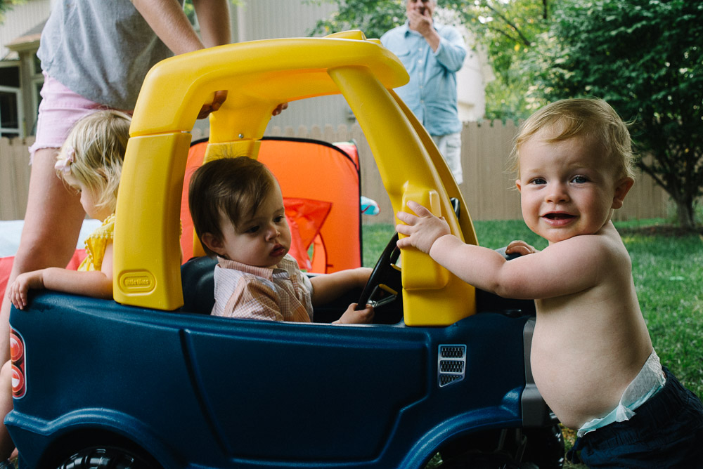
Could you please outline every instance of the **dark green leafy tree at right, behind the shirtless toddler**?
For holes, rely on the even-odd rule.
[[[638,162],[682,227],[703,194],[703,4],[562,0],[525,68],[537,98],[598,96],[632,121]]]

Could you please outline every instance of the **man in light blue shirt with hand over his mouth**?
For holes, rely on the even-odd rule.
[[[396,93],[427,128],[458,184],[461,121],[456,109],[456,72],[466,56],[455,28],[432,20],[437,0],[406,0],[408,20],[381,37],[381,44],[405,65],[410,82]]]

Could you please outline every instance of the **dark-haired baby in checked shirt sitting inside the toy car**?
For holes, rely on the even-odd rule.
[[[217,254],[212,315],[311,322],[322,305],[363,287],[370,269],[342,270],[308,279],[288,254],[290,228],[276,178],[249,157],[223,158],[191,178],[193,227],[210,255]],[[337,324],[369,323],[373,308],[352,303]]]

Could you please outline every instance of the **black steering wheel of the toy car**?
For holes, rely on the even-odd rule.
[[[376,265],[368,277],[366,285],[359,296],[357,310],[363,310],[366,304],[374,308],[391,303],[401,295],[400,267],[396,262],[400,256],[400,249],[396,246],[398,233],[395,233],[376,261]]]

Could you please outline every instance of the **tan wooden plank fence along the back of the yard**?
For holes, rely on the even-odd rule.
[[[515,220],[522,218],[520,194],[515,190],[515,177],[506,172],[506,160],[517,132],[515,124],[478,124],[463,126],[462,165],[464,182],[460,186],[469,213],[474,220]],[[361,161],[361,193],[378,202],[378,216],[363,217],[364,223],[394,223],[392,207],[381,182],[378,169],[366,138],[358,125],[351,127],[313,126],[297,129],[273,127],[267,136],[314,138],[330,143],[355,140]],[[201,138],[193,131],[193,140]],[[27,147],[33,138],[0,139],[0,220],[24,218],[30,166]],[[639,174],[637,182],[616,218],[657,218],[669,212],[669,197],[649,176]]]

